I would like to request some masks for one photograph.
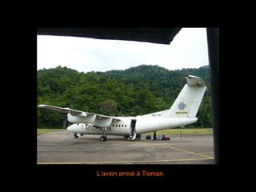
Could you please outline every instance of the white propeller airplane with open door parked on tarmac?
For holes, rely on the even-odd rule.
[[[94,134],[102,135],[99,140],[106,142],[106,135],[119,135],[134,141],[140,139],[141,134],[184,127],[197,122],[196,115],[205,91],[206,84],[202,78],[188,75],[186,84],[170,109],[135,117],[107,116],[45,104],[38,105],[38,107],[66,113],[67,120],[72,123],[66,129],[74,133],[74,138],[83,134]]]

